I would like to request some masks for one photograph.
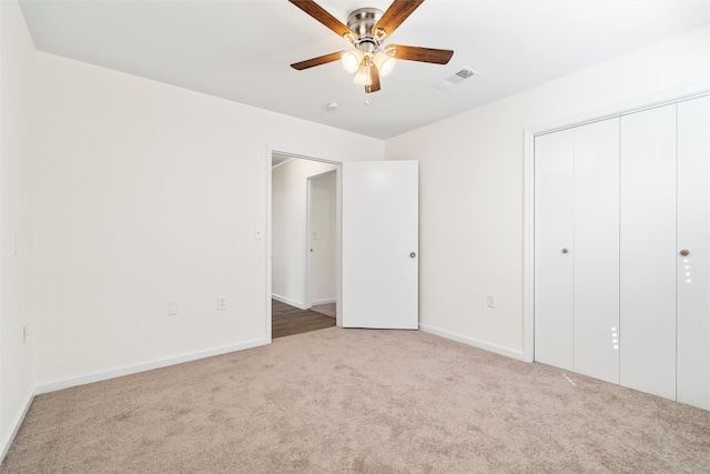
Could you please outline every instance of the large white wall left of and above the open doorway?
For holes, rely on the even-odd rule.
[[[39,383],[266,342],[267,148],[384,157],[381,140],[43,52],[37,77]]]

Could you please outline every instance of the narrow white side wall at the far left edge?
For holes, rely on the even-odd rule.
[[[16,1],[0,1],[0,21],[1,461],[32,394],[36,326],[31,316],[34,46]]]

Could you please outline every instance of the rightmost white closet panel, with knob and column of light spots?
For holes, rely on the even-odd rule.
[[[678,401],[710,410],[710,107],[678,104]],[[679,252],[688,250],[684,256]],[[684,253],[684,252],[683,252]]]

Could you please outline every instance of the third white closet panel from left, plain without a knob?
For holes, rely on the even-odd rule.
[[[620,383],[676,400],[676,105],[621,118]]]

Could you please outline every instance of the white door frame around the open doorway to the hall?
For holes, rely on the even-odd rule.
[[[265,332],[266,332],[266,341],[271,344],[271,294],[272,294],[272,157],[276,154],[285,154],[288,157],[293,157],[294,159],[303,159],[311,161],[320,161],[324,163],[336,164],[335,169],[335,323],[338,326],[342,326],[342,316],[341,316],[341,291],[342,291],[342,228],[343,228],[343,193],[342,193],[342,163],[343,160],[337,160],[331,157],[318,155],[317,153],[312,153],[303,150],[296,150],[290,147],[280,147],[280,145],[266,145],[266,159],[264,160],[266,167],[266,294],[265,294],[265,305],[266,305],[266,314],[265,314]]]

